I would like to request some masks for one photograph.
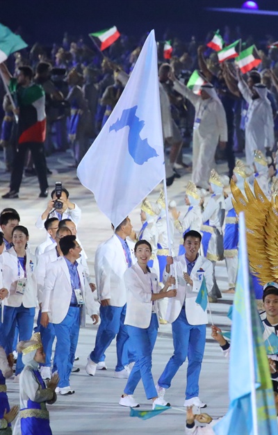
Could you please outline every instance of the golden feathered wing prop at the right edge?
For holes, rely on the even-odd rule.
[[[254,193],[245,180],[245,195],[231,180],[232,199],[236,213],[245,214],[247,251],[250,267],[262,285],[278,279],[278,202],[269,199],[261,190],[256,179]],[[275,242],[275,240],[276,242]]]

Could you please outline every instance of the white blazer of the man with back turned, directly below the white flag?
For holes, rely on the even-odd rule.
[[[133,245],[126,240],[131,251],[131,261],[136,263]],[[124,249],[117,236],[114,234],[106,242],[97,247],[95,254],[95,278],[97,284],[97,297],[99,302],[111,299],[112,306],[126,304],[126,288],[124,285],[124,272],[128,268]]]

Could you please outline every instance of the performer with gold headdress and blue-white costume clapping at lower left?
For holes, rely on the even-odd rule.
[[[56,402],[59,378],[55,373],[46,386],[40,376],[39,365],[45,362],[40,333],[33,334],[31,340],[19,341],[17,352],[22,352],[25,366],[19,380],[22,435],[52,435],[46,403]]]

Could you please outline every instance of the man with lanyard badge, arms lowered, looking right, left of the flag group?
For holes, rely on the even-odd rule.
[[[60,239],[63,257],[47,267],[42,294],[42,326],[54,324],[57,337],[56,366],[60,381],[57,392],[73,394],[70,373],[79,338],[79,327],[85,325],[85,308],[94,323],[98,322],[97,307],[85,279],[83,267],[77,263],[81,247],[75,236]]]

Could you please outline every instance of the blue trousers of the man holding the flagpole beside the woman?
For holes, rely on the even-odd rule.
[[[199,374],[206,344],[206,325],[189,325],[183,308],[179,317],[172,323],[172,334],[174,355],[158,379],[158,385],[169,388],[174,375],[188,357],[186,399],[191,399],[199,395]]]

